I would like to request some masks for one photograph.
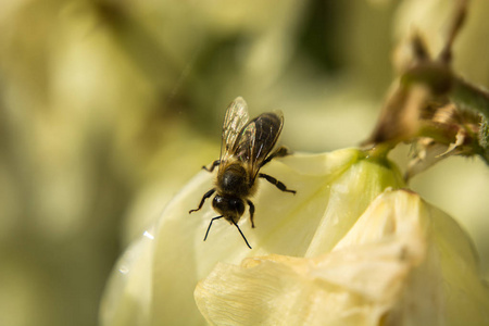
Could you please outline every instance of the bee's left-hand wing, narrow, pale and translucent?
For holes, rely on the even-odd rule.
[[[221,143],[221,163],[234,154],[236,140],[249,118],[247,102],[243,98],[236,98],[226,110],[223,124],[223,142]],[[223,166],[223,164],[221,164]]]

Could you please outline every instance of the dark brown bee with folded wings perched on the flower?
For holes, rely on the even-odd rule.
[[[212,173],[218,166],[214,188],[205,192],[199,206],[190,210],[189,214],[199,211],[205,200],[214,192],[212,206],[220,214],[213,217],[205,233],[208,238],[212,223],[224,218],[236,226],[251,249],[247,238],[238,226],[238,222],[244,213],[246,203],[249,206],[251,227],[254,228],[254,204],[250,200],[256,192],[256,177],[264,178],[279,190],[296,195],[294,190],[287,187],[273,176],[260,173],[260,170],[274,158],[288,154],[287,148],[279,147],[275,151],[275,145],[280,136],[284,125],[281,112],[263,113],[248,122],[247,103],[241,97],[234,100],[226,111],[224,118],[220,160],[214,161],[210,167],[202,168]]]

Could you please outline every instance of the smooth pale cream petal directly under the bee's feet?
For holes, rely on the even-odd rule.
[[[262,172],[297,190],[297,195],[258,180],[259,191],[252,198],[256,227],[251,228],[248,212],[239,222],[252,250],[237,229],[223,220],[213,224],[203,242],[211,218],[217,216],[211,200],[201,211],[188,213],[213,187],[214,174],[200,172],[166,205],[154,228],[148,274],[152,325],[180,325],[183,321],[185,325],[205,324],[196,306],[193,290],[218,262],[238,264],[244,258],[272,253],[314,256],[328,252],[378,193],[387,187],[403,186],[399,172],[388,162],[367,159],[356,149],[294,154],[274,160]],[[114,289],[109,288],[105,296],[115,298],[111,291]],[[140,306],[140,302],[135,302],[133,313],[145,314]]]

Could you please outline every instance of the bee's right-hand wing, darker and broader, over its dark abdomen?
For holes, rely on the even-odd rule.
[[[246,125],[236,140],[233,153],[244,163],[252,179],[277,143],[283,125],[280,111],[263,113]]]

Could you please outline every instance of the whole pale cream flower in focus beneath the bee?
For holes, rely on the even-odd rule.
[[[255,228],[189,215],[213,181],[199,173],[117,263],[109,325],[422,325],[489,322],[466,234],[405,187],[375,150],[293,154],[263,168]],[[247,215],[244,215],[247,216]],[[196,288],[197,287],[197,288]],[[197,304],[196,304],[197,302]]]

